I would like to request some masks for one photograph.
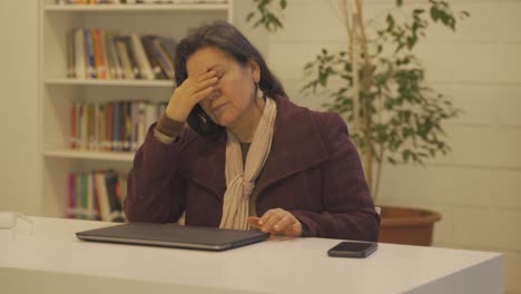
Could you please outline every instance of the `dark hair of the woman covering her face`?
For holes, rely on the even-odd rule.
[[[272,74],[260,52],[237,28],[226,21],[201,26],[180,40],[176,47],[174,60],[177,85],[181,85],[187,79],[186,61],[188,58],[205,47],[215,47],[243,66],[246,66],[248,60],[255,60],[260,68],[258,88],[267,97],[286,97],[281,81]],[[188,115],[187,122],[203,137],[213,138],[224,133],[224,127],[216,125],[200,105],[194,107]]]

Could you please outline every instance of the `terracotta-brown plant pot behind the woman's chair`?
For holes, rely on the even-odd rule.
[[[379,242],[431,246],[436,212],[419,208],[382,206]]]

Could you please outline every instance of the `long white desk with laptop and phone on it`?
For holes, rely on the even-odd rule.
[[[0,229],[2,293],[503,293],[498,253],[380,244],[333,258],[338,241],[320,238],[212,253],[82,242],[76,232],[114,224],[31,218],[32,233]]]

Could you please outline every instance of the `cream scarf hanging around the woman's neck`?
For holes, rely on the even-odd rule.
[[[220,228],[248,229],[249,196],[255,188],[255,179],[264,167],[272,147],[277,106],[266,98],[263,116],[258,121],[252,146],[243,165],[240,144],[229,130],[226,143],[226,193],[224,195]],[[244,166],[244,167],[243,167]]]

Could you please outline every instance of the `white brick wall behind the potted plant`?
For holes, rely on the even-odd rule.
[[[393,2],[366,0],[366,12],[374,16]],[[441,212],[435,246],[505,253],[507,291],[521,293],[521,1],[450,2],[471,18],[455,35],[430,30],[417,52],[431,86],[465,111],[446,125],[453,153],[426,168],[385,166],[380,203]],[[323,99],[298,94],[302,69],[320,48],[344,45],[334,7],[328,0],[289,1],[285,30],[269,42],[268,62],[291,98],[315,109]]]

